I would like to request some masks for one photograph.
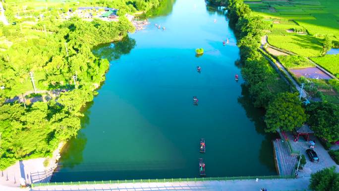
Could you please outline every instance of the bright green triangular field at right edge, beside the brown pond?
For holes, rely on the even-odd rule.
[[[326,70],[331,72],[336,77],[339,77],[339,55],[326,55],[324,57],[314,57],[311,60]]]

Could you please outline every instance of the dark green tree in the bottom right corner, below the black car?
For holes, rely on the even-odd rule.
[[[312,191],[339,191],[339,173],[336,172],[336,167],[312,174],[309,187]]]

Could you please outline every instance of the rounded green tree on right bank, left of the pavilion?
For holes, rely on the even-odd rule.
[[[291,131],[306,121],[306,115],[296,94],[280,93],[268,106],[265,115],[267,132],[275,132],[278,128]]]

